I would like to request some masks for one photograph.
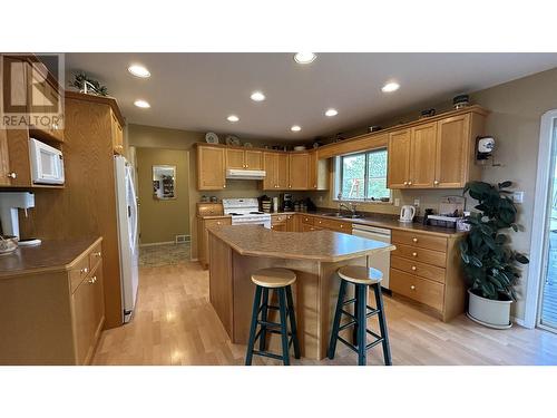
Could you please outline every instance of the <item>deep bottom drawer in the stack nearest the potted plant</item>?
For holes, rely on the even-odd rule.
[[[444,285],[391,269],[389,289],[438,311],[443,310]]]

